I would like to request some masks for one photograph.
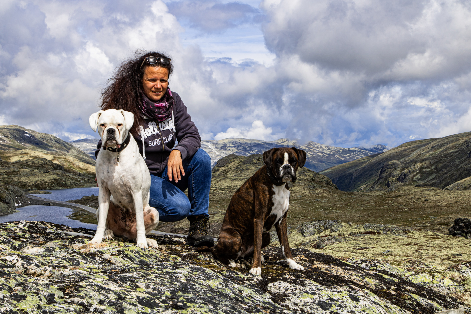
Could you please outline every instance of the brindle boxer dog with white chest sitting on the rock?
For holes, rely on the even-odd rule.
[[[265,165],[232,196],[212,253],[233,267],[238,258],[253,255],[250,273],[261,274],[260,264],[265,261],[261,249],[270,243],[269,231],[275,226],[288,266],[303,270],[291,255],[286,215],[290,198],[287,182],[296,181],[296,171],[304,166],[306,153],[295,147],[272,148],[263,153],[263,161]]]

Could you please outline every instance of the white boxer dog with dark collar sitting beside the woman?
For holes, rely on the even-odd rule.
[[[134,115],[122,109],[100,110],[89,122],[102,141],[96,162],[98,226],[90,243],[122,235],[136,239],[140,248],[158,248],[155,240],[146,238],[159,223],[159,213],[149,206],[149,169],[129,132]]]

